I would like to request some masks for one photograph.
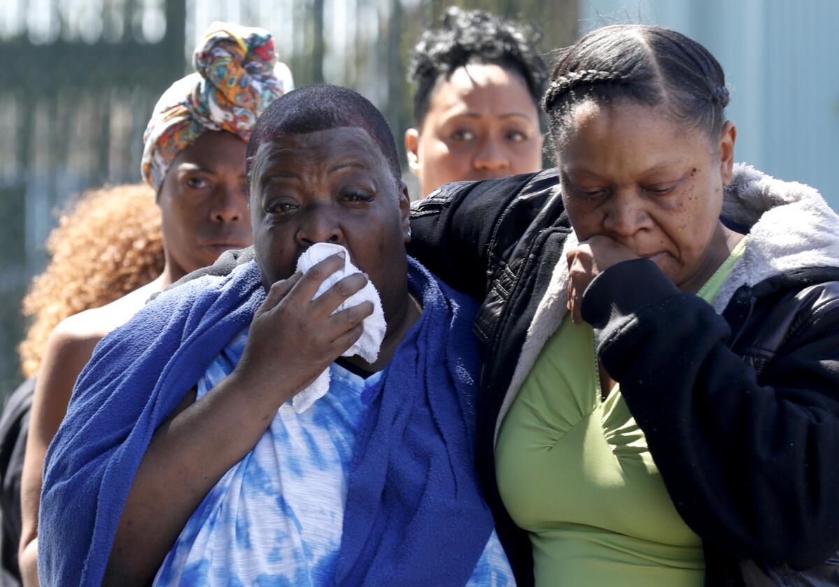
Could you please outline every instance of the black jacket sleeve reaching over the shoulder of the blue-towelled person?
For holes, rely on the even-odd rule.
[[[549,195],[543,184],[555,183],[549,170],[446,184],[411,206],[408,253],[451,287],[483,299],[500,219],[508,218],[503,238],[518,242]]]

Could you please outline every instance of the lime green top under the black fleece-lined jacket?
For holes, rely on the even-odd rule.
[[[711,302],[746,239],[698,293]],[[594,335],[566,316],[504,418],[498,490],[529,532],[537,587],[701,587],[701,539],[676,512],[620,388],[602,400]]]

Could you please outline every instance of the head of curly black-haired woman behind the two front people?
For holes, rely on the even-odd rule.
[[[542,169],[539,33],[483,10],[446,10],[411,53],[414,127],[405,132],[420,194],[442,184]]]

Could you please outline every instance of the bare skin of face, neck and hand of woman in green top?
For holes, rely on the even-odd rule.
[[[648,257],[694,294],[711,278],[743,238],[719,220],[736,138],[732,122],[711,138],[660,106],[585,102],[572,112],[557,157],[580,240],[568,253],[576,324],[588,285],[619,262]],[[600,376],[605,397],[615,382],[602,366]]]

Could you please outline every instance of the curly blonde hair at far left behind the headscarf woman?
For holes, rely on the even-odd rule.
[[[50,332],[79,312],[122,298],[164,268],[160,209],[145,184],[107,186],[71,202],[47,240],[50,263],[23,299],[32,319],[18,353],[26,377],[40,366]]]

